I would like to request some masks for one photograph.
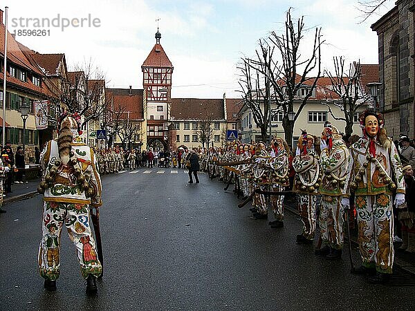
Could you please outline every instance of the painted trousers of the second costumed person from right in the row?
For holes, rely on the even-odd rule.
[[[320,233],[324,244],[342,249],[344,241],[344,208],[340,196],[322,195],[320,207]]]

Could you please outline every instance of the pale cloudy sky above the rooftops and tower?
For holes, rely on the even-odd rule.
[[[174,66],[172,97],[241,97],[237,63],[252,56],[260,38],[282,32],[286,11],[304,15],[306,28],[321,27],[326,44],[322,64],[330,69],[333,56],[347,62],[378,63],[378,38],[370,25],[379,16],[358,23],[353,0],[6,0],[8,30],[42,29],[26,19],[82,19],[91,17],[99,27],[44,28],[50,36],[16,37],[39,53],[64,53],[69,69],[89,59],[106,73],[107,86],[142,88],[141,65],[156,43],[156,19],[161,41]],[[380,13],[389,8],[382,8]],[[23,19],[21,19],[23,18]],[[20,23],[21,19],[23,25]],[[14,21],[14,22],[13,22]],[[56,21],[55,21],[56,22]],[[16,25],[17,24],[17,25]],[[15,27],[13,27],[15,26]],[[304,38],[304,55],[313,33]],[[307,48],[308,47],[308,48]]]

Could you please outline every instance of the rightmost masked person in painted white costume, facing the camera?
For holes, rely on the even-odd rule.
[[[395,205],[405,202],[405,185],[398,151],[383,128],[380,113],[365,111],[360,115],[362,137],[351,145],[351,161],[345,180],[344,207],[349,207],[349,196],[355,194],[358,217],[358,243],[362,266],[358,274],[376,274],[369,278],[374,283],[386,283],[394,264]]]

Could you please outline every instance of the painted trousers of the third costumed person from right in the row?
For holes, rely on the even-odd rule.
[[[315,194],[299,194],[299,216],[303,223],[302,235],[308,240],[313,240],[315,232]]]

